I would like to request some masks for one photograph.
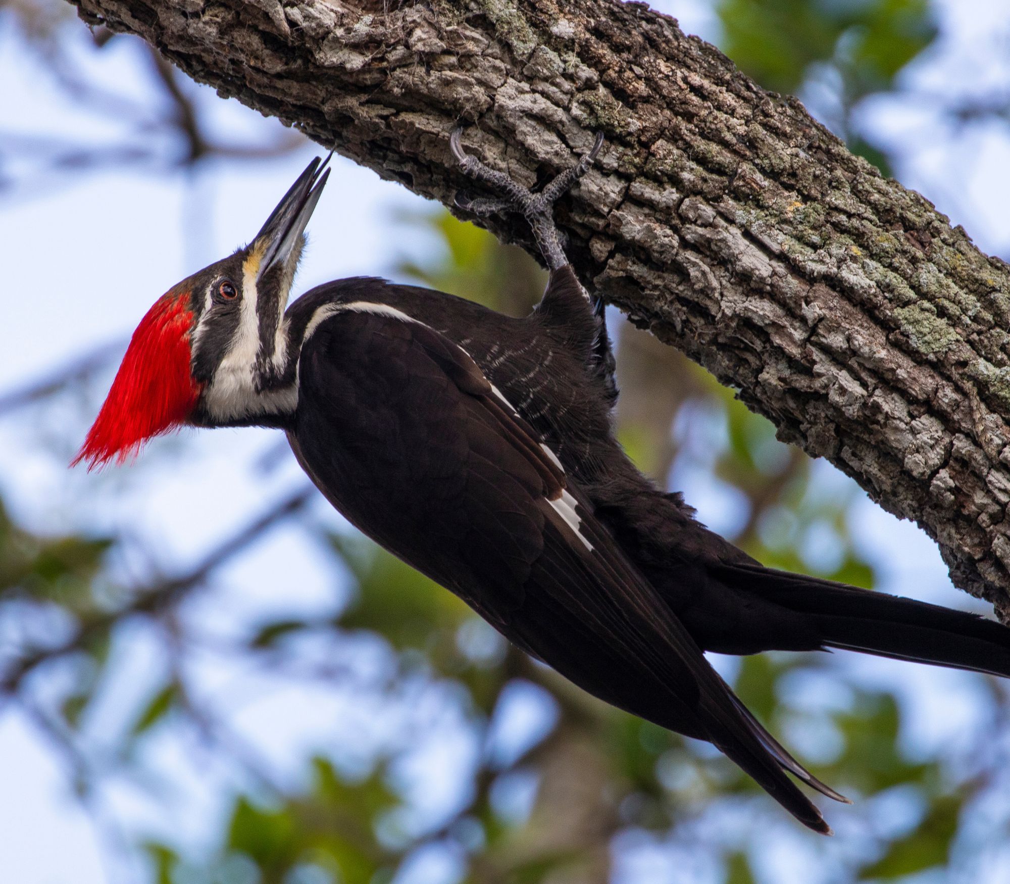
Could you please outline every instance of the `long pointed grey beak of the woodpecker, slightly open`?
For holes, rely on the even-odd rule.
[[[316,157],[309,163],[257,233],[247,259],[252,264],[250,269],[255,270],[257,282],[275,267],[280,267],[282,275],[289,281],[294,276],[305,227],[326,185],[329,177],[326,165],[332,156],[331,151],[325,160],[320,161]]]

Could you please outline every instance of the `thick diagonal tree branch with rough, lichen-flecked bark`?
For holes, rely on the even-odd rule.
[[[1008,268],[795,99],[615,0],[77,2],[446,205],[460,123],[530,184],[602,130],[561,209],[583,278],[915,519],[954,583],[1010,615]],[[517,218],[489,226],[530,245]]]

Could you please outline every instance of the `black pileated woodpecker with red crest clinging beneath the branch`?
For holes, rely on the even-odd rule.
[[[550,270],[521,319],[381,279],[285,310],[326,183],[313,160],[252,242],[183,280],[140,321],[78,455],[122,462],[182,424],[287,432],[329,502],[591,694],[717,746],[811,828],[789,778],[842,798],[747,711],[704,651],[844,648],[1010,676],[1010,629],[971,614],[763,567],[656,488],[614,438],[601,312],[560,244],[553,202],[602,138],[538,195],[472,156],[522,212]],[[76,462],[75,462],[76,463]]]

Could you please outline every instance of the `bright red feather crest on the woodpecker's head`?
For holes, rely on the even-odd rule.
[[[130,339],[109,395],[71,466],[123,463],[152,436],[179,426],[200,398],[190,370],[189,293],[160,298]]]

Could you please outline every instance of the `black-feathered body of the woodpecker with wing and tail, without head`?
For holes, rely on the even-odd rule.
[[[811,827],[823,821],[785,772],[839,796],[761,727],[704,651],[849,648],[1010,675],[1006,627],[767,569],[642,476],[611,431],[570,268],[522,319],[375,279],[322,286],[290,315],[302,324],[344,304],[416,321],[338,309],[302,349],[288,435],[330,502],[590,693],[718,746]],[[578,501],[592,551],[546,505],[557,487]]]

